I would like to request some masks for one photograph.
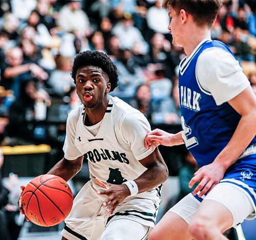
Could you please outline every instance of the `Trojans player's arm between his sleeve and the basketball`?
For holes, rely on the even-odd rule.
[[[68,160],[66,158],[62,158],[53,166],[53,168],[47,174],[54,174],[61,177],[65,181],[69,181],[75,176],[77,172],[81,170],[82,161],[83,156],[75,160]]]

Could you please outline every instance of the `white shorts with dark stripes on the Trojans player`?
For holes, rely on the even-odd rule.
[[[152,192],[146,194],[152,195]],[[109,216],[89,181],[74,199],[61,234],[69,240],[145,239],[155,226],[158,204],[150,197],[144,199],[136,196],[126,198]]]

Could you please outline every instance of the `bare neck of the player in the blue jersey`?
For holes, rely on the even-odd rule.
[[[191,31],[188,33],[186,41],[183,44],[187,57],[193,53],[195,48],[204,39],[210,39],[210,29],[208,29],[208,27],[194,26],[191,28]]]

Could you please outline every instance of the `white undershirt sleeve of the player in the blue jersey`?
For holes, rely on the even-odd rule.
[[[221,48],[206,49],[200,54],[196,77],[200,88],[209,92],[217,105],[236,97],[250,85],[239,62]]]

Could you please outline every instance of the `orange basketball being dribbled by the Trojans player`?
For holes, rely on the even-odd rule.
[[[26,186],[21,201],[24,213],[32,223],[50,227],[68,216],[73,194],[65,180],[45,174],[34,178]]]

